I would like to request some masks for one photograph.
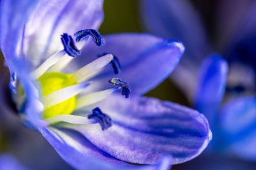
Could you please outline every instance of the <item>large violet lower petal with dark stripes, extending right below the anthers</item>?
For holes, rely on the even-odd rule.
[[[123,161],[154,164],[170,155],[174,164],[183,163],[199,155],[212,139],[202,114],[168,101],[116,95],[96,106],[113,119],[108,130],[102,131],[98,124],[65,126]]]

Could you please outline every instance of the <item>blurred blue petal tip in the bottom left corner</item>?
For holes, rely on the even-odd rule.
[[[1,170],[28,170],[26,167],[21,165],[18,160],[16,160],[13,156],[2,154],[0,155],[0,169]]]

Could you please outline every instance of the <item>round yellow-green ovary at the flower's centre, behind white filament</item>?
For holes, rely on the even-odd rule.
[[[70,85],[76,85],[77,81],[71,74],[64,73],[45,73],[38,81],[42,87],[42,97],[53,93],[59,89],[63,89]],[[71,114],[75,109],[77,96],[71,97],[57,105],[46,108],[43,112],[44,118],[51,118],[61,114]]]

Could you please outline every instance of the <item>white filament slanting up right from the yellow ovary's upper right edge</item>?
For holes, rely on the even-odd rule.
[[[82,67],[82,69],[79,69],[73,74],[73,77],[78,81],[82,82],[86,79],[90,79],[90,77],[94,76],[94,73],[98,73],[99,69],[102,69],[106,65],[108,65],[109,62],[113,60],[114,56],[112,54],[107,54],[105,56],[102,56],[98,58],[97,60],[94,60],[93,62],[90,62],[85,67]]]

